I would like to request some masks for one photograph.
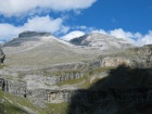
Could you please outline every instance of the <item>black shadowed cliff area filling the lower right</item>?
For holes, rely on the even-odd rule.
[[[152,114],[151,73],[119,65],[84,93],[78,90],[67,114]]]

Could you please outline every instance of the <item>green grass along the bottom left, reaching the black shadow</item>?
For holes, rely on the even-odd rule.
[[[0,90],[0,114],[66,114],[68,103],[47,104],[47,107],[38,107],[29,100]]]

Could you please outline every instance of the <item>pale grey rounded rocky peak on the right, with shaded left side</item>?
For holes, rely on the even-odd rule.
[[[100,47],[103,50],[134,47],[130,42],[123,38],[116,38],[103,34],[84,35],[79,38],[72,39],[69,42],[76,46]]]

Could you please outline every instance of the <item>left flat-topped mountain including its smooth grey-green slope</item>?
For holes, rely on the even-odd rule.
[[[59,40],[52,35],[26,31],[3,46],[5,64],[16,68],[36,68],[79,62],[94,58],[90,50]],[[100,52],[97,50],[96,53]],[[87,56],[87,58],[86,58]]]

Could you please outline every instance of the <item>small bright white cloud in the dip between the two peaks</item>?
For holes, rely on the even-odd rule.
[[[71,31],[67,35],[61,37],[61,39],[69,41],[71,39],[76,38],[76,37],[80,37],[83,35],[85,35],[85,33],[83,33],[80,30],[74,30],[74,31]]]

